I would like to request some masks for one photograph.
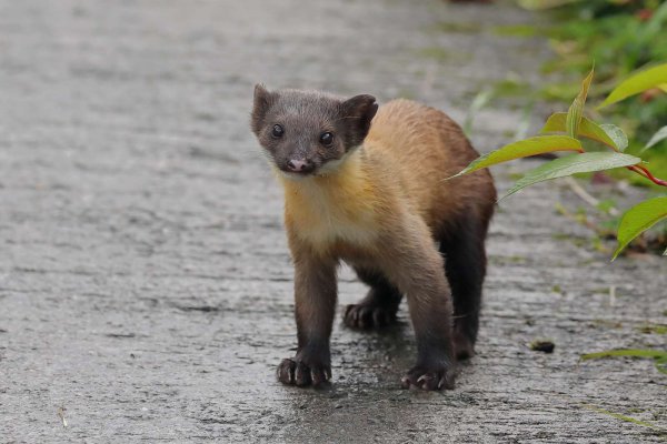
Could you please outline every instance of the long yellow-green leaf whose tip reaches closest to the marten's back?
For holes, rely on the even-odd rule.
[[[581,143],[577,139],[573,139],[567,135],[538,135],[535,138],[519,140],[518,142],[514,142],[499,148],[496,151],[491,151],[486,155],[481,155],[470,162],[470,164],[461,172],[448,179],[457,178],[472,171],[481,170],[482,168],[519,158],[527,158],[530,155],[542,154],[552,151],[579,150],[581,150]]]

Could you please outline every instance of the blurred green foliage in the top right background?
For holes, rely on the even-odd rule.
[[[542,98],[569,102],[578,90],[577,81],[596,67],[598,87],[591,101],[599,101],[630,72],[667,61],[667,2],[660,0],[519,0],[530,9],[548,9],[550,26],[499,29],[500,34],[549,38],[556,58],[542,67],[545,74],[558,72],[566,81],[549,83]],[[604,119],[623,128],[629,135],[626,152],[639,152],[651,135],[667,124],[667,85],[615,104]],[[599,118],[599,115],[594,115]],[[667,176],[667,140],[643,155],[651,171]],[[647,185],[635,174],[620,172],[634,183]]]

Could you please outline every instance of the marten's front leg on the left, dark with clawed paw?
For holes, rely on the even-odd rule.
[[[336,261],[292,250],[297,354],[278,366],[283,384],[317,386],[331,379],[329,337],[336,312]]]

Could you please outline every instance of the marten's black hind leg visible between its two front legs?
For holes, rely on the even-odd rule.
[[[348,305],[342,320],[352,329],[378,329],[396,322],[402,294],[380,272],[356,266],[357,275],[370,290],[357,304]]]

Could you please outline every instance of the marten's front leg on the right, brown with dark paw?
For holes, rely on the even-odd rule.
[[[421,221],[419,221],[421,222]],[[410,319],[417,339],[417,363],[401,379],[404,387],[422,390],[454,389],[456,360],[452,343],[452,302],[445,278],[442,258],[426,226],[412,221],[400,248],[385,261],[407,295]]]

